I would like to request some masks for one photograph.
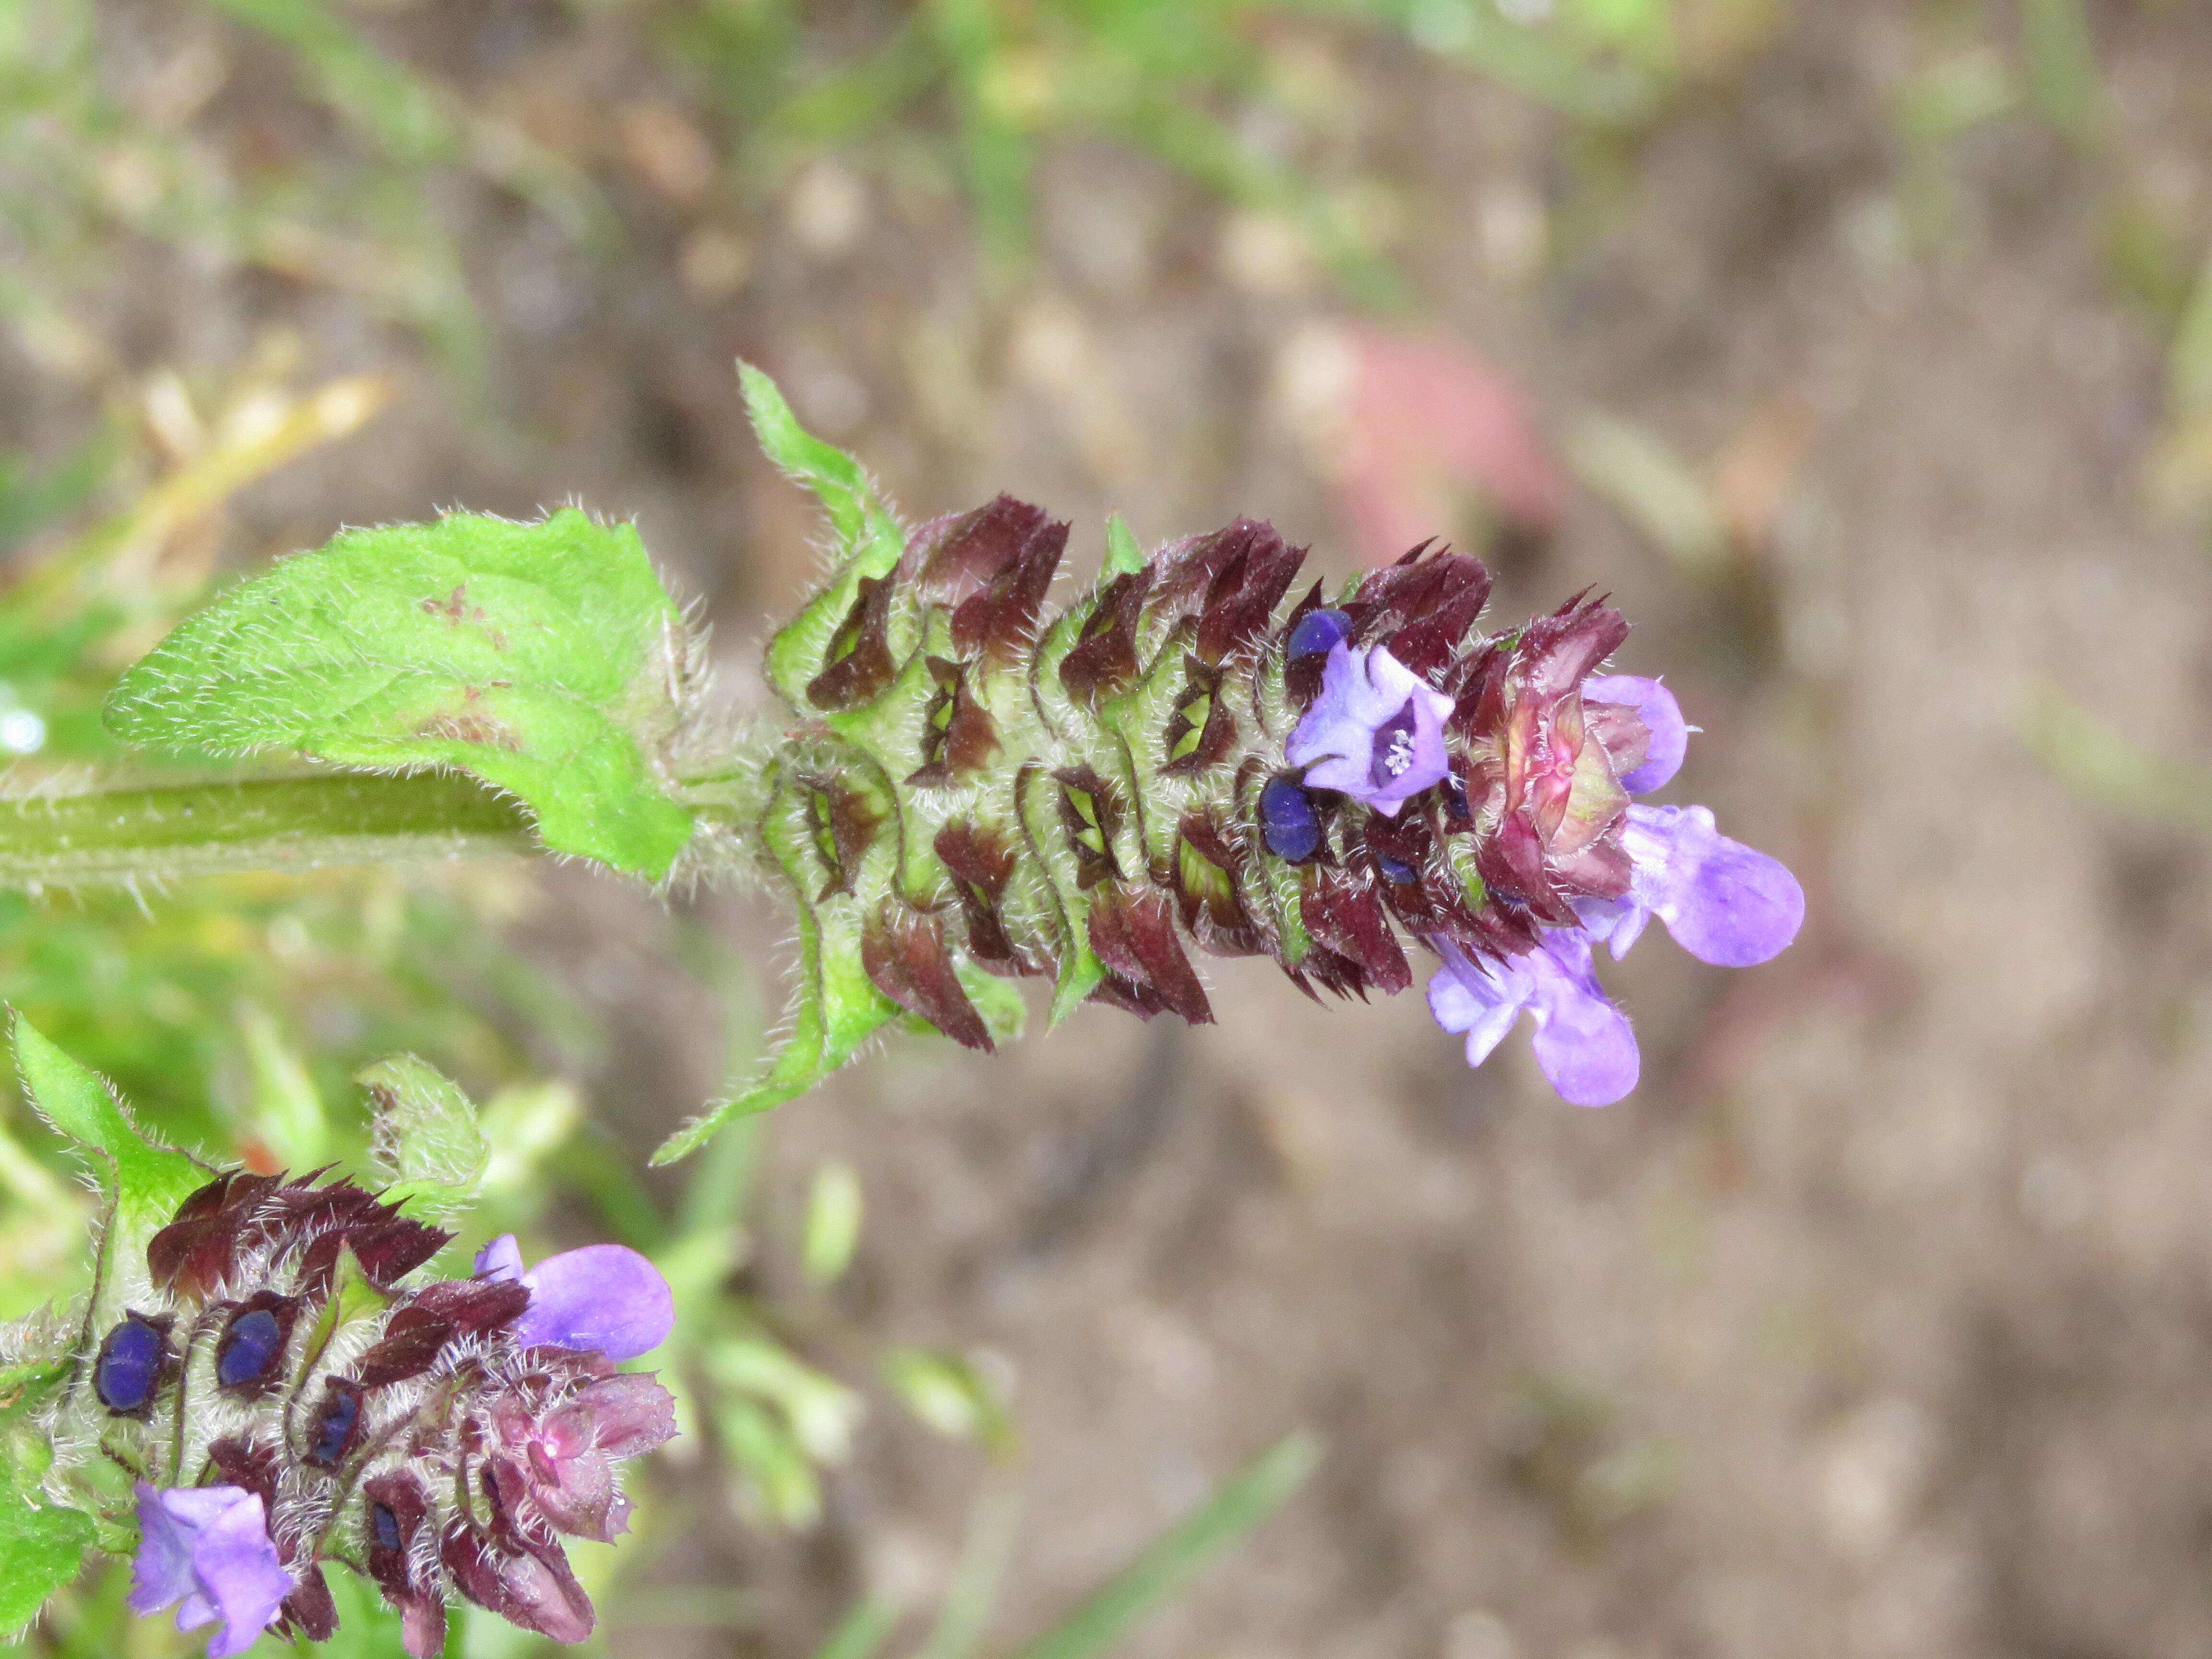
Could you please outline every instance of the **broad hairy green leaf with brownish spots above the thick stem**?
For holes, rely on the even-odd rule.
[[[347,531],[226,593],[106,719],[175,750],[471,772],[522,796],[553,852],[659,878],[692,830],[657,765],[681,657],[635,526],[456,513]]]

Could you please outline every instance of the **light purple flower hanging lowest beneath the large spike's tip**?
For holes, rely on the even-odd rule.
[[[1590,942],[1577,929],[1546,929],[1526,956],[1469,958],[1436,940],[1444,967],[1429,980],[1429,1013],[1467,1033],[1467,1064],[1480,1066],[1522,1013],[1535,1020],[1535,1062],[1573,1106],[1610,1106],[1637,1086],[1637,1035],[1590,973]]]

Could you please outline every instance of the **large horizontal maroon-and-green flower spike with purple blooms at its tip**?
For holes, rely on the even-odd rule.
[[[796,1042],[752,1106],[905,1011],[993,1042],[984,975],[1144,1018],[1212,1018],[1188,947],[1272,956],[1307,993],[1413,984],[1480,1064],[1526,1013],[1571,1102],[1637,1079],[1597,987],[1657,916],[1743,967],[1803,894],[1703,807],[1648,805],[1690,728],[1577,597],[1484,633],[1480,560],[1418,546],[1334,602],[1239,520],[1044,606],[1066,524],[998,498],[854,551],[770,646],[805,721],[763,772],[761,845],[803,914]],[[790,1082],[785,1082],[790,1079]]]

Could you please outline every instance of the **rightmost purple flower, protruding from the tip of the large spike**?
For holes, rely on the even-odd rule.
[[[1705,807],[1628,807],[1628,894],[1586,898],[1575,909],[1613,960],[1657,916],[1690,956],[1717,967],[1752,967],[1796,938],[1805,889],[1778,858],[1723,836]]]

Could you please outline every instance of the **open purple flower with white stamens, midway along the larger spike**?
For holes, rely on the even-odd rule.
[[[1318,615],[1318,613],[1316,613]],[[1287,759],[1316,790],[1340,790],[1387,818],[1451,770],[1451,699],[1383,646],[1329,646],[1321,697],[1290,734]]]

